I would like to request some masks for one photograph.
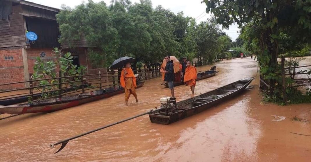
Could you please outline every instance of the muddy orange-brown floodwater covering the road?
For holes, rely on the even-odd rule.
[[[219,73],[198,81],[195,95],[257,74],[257,62],[249,57],[216,65]],[[131,96],[129,106],[120,94],[0,120],[0,161],[309,161],[311,137],[293,133],[311,135],[311,105],[262,103],[258,80],[251,83],[253,89],[176,123],[152,124],[145,115],[72,140],[57,154],[60,146],[50,144],[144,113],[159,106],[169,89],[160,85],[160,78],[151,79],[137,89],[139,103]],[[178,101],[193,97],[189,87],[174,89]],[[294,116],[302,120],[294,121]]]

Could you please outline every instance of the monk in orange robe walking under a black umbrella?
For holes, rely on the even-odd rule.
[[[128,99],[130,98],[131,94],[133,94],[133,96],[136,99],[136,102],[138,102],[137,94],[135,91],[135,88],[137,87],[136,77],[133,73],[133,70],[131,69],[130,63],[126,63],[124,68],[122,69],[120,83],[125,91],[125,105],[128,106]]]

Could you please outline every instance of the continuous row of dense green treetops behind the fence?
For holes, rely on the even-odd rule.
[[[89,60],[94,68],[107,67],[114,59],[132,56],[136,61],[162,61],[165,55],[200,57],[213,61],[223,56],[220,47],[228,41],[216,19],[197,25],[183,12],[174,14],[162,6],[152,8],[150,0],[132,4],[129,0],[104,2],[88,1],[75,8],[62,7],[57,21],[62,37],[60,42],[85,38],[94,49],[89,50]],[[55,51],[55,50],[54,50]],[[136,70],[136,62],[133,64]]]

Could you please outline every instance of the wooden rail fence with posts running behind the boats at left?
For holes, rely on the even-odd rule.
[[[140,68],[134,70],[134,73],[139,74],[142,80],[153,79],[156,77],[161,76],[160,67],[151,66],[152,68]],[[28,81],[21,81],[21,82],[14,82],[14,83],[4,83],[0,84],[1,86],[14,86],[14,84],[21,84],[21,83],[29,83],[29,87],[26,88],[15,88],[15,89],[8,89],[0,91],[0,103],[4,100],[9,99],[16,99],[20,97],[27,97],[28,101],[25,102],[35,102],[42,99],[49,99],[55,97],[63,97],[72,94],[80,94],[85,93],[89,90],[95,89],[102,89],[102,88],[109,88],[119,85],[119,78],[121,71],[118,70],[109,70],[106,73],[98,73],[98,74],[87,74],[77,75],[77,76],[61,76],[59,75],[56,78],[47,78],[47,79],[35,79],[32,80],[32,74],[30,75],[30,80]],[[59,74],[61,72],[59,71]],[[92,76],[92,78],[88,78]],[[96,77],[94,77],[96,76]],[[69,79],[69,81],[64,81],[65,79]],[[76,79],[76,80],[75,80]],[[56,83],[50,83],[47,85],[40,85],[40,81],[44,80],[55,80]],[[46,91],[44,88],[52,87],[51,90]],[[28,92],[25,92],[27,90]],[[6,94],[7,93],[7,94]],[[14,94],[12,94],[14,93]],[[53,95],[52,95],[53,93]],[[45,94],[49,94],[49,96],[42,98]],[[1,105],[1,104],[0,104]]]

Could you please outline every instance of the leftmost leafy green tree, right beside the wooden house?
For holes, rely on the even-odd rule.
[[[63,6],[56,19],[62,35],[60,43],[71,45],[72,40],[86,38],[88,43],[100,49],[91,52],[89,57],[92,60],[107,62],[107,59],[113,57],[115,47],[119,44],[118,31],[113,26],[111,12],[104,2],[94,3],[89,0],[75,9]]]

